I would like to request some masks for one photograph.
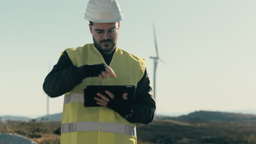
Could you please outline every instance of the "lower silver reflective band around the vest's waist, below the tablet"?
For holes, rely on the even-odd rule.
[[[98,122],[74,122],[61,124],[61,133],[98,130],[136,136],[136,128],[126,124],[101,122],[100,129],[98,129]]]

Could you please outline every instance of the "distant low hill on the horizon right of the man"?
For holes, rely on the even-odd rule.
[[[256,124],[256,115],[231,112],[195,111],[179,117],[160,116],[159,119],[172,119],[189,122],[231,122]]]

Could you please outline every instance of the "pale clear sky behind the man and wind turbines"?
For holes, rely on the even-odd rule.
[[[118,47],[146,59],[158,113],[256,109],[256,1],[119,0]],[[45,76],[68,47],[92,43],[88,0],[0,2],[0,115],[46,114]],[[50,99],[62,112],[63,96]]]

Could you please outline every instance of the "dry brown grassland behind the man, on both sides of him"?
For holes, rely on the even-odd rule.
[[[60,122],[0,122],[0,133],[19,134],[39,144],[60,143]],[[138,144],[255,144],[256,125],[155,121],[137,127]]]

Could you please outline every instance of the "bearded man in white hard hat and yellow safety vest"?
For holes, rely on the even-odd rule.
[[[61,144],[137,143],[136,123],[152,122],[155,111],[144,59],[116,46],[123,19],[117,1],[90,0],[85,19],[94,44],[63,51],[43,84],[50,97],[65,94]],[[85,107],[89,85],[133,85],[135,99],[106,91],[94,98],[98,106]]]

